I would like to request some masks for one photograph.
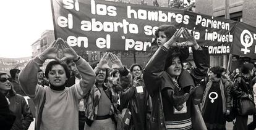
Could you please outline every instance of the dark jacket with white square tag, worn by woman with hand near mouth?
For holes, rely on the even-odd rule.
[[[143,94],[137,93],[136,87],[143,87]],[[141,100],[143,98],[143,100]],[[121,109],[129,108],[132,112],[132,122],[130,127],[137,130],[143,130],[147,128],[147,113],[151,113],[150,106],[150,96],[145,89],[145,84],[143,79],[139,79],[137,84],[130,84],[130,87],[126,91],[121,92]],[[129,106],[128,106],[129,102]],[[143,102],[143,103],[142,103]],[[144,106],[139,108],[139,106]]]

